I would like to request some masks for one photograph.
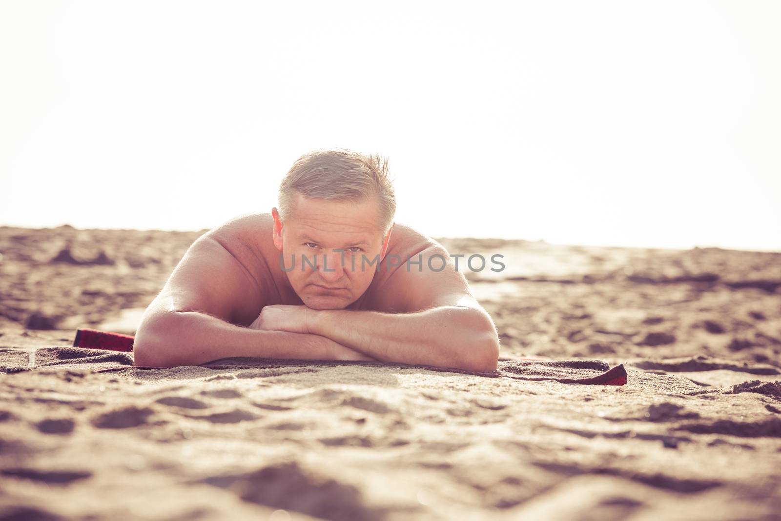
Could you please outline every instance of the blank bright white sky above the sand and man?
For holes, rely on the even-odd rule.
[[[430,236],[781,250],[781,2],[0,3],[0,224],[201,229],[301,154]]]

